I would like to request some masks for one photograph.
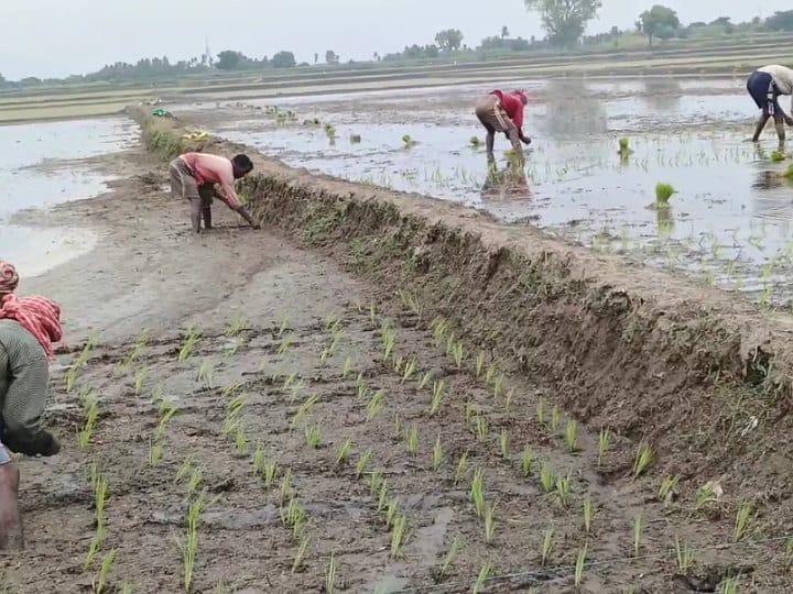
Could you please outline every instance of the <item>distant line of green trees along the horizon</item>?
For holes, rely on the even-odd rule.
[[[590,21],[597,18],[601,0],[523,0],[529,11],[535,12],[541,20],[546,36],[536,40],[532,36],[524,40],[510,35],[508,26],[502,26],[497,35],[481,40],[476,47],[465,43],[463,32],[458,29],[439,31],[434,43],[425,45],[409,45],[401,52],[380,55],[374,52],[371,62],[399,62],[412,59],[434,59],[459,53],[478,52],[482,57],[488,53],[530,52],[550,48],[572,48],[580,45],[595,45],[611,42],[615,45],[624,34],[638,33],[644,35],[650,46],[656,40],[687,38],[692,36],[717,36],[740,31],[756,32],[793,32],[793,10],[778,11],[765,19],[754,18],[746,23],[732,23],[729,16],[719,16],[709,23],[695,22],[683,25],[677,13],[663,4],[654,4],[644,10],[636,21],[634,31],[621,31],[611,28],[607,33],[584,35]],[[327,50],[324,56],[314,54],[314,65],[322,63],[337,65],[341,57],[333,50]],[[355,64],[355,61],[347,61]],[[143,58],[134,64],[117,62],[108,64],[88,75],[75,75],[65,79],[45,79],[28,77],[18,81],[8,81],[0,74],[0,88],[30,87],[42,82],[93,82],[100,80],[149,80],[156,78],[175,77],[183,74],[202,74],[213,70],[261,70],[268,68],[293,68],[296,66],[311,66],[307,62],[297,63],[294,53],[281,51],[273,56],[250,57],[242,52],[225,50],[217,56],[202,55],[187,61],[171,62],[167,57]]]

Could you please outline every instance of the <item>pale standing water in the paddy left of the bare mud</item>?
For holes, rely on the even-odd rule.
[[[0,257],[35,276],[96,244],[87,229],[30,229],[12,215],[67,200],[90,198],[107,178],[76,160],[117,151],[135,138],[123,119],[0,127]]]

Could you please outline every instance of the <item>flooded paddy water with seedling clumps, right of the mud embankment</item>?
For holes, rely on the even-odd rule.
[[[196,108],[207,128],[309,170],[416,191],[531,220],[604,252],[693,273],[764,305],[793,287],[793,186],[763,146],[747,142],[754,105],[740,78],[520,81],[530,90],[525,175],[489,176],[471,102],[484,87],[285,98]],[[786,107],[786,106],[785,106]],[[330,123],[335,138],[323,125]],[[359,135],[360,141],[354,139]],[[410,146],[404,136],[414,141]],[[622,160],[618,141],[632,154]],[[509,148],[497,138],[499,166]],[[652,208],[658,183],[677,193]]]

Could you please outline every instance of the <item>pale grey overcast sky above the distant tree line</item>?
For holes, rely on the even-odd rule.
[[[652,0],[602,0],[589,32],[632,26]],[[669,0],[684,23],[729,15],[768,16],[790,0]],[[104,64],[166,55],[198,56],[233,48],[272,56],[291,50],[313,62],[334,50],[343,61],[431,43],[442,29],[477,45],[508,25],[513,35],[542,36],[523,0],[0,0],[0,73],[9,79],[85,74]],[[322,59],[322,58],[321,58]]]

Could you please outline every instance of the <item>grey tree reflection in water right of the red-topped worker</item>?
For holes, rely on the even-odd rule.
[[[545,87],[544,128],[551,138],[580,138],[608,130],[602,101],[582,78],[554,78]]]

